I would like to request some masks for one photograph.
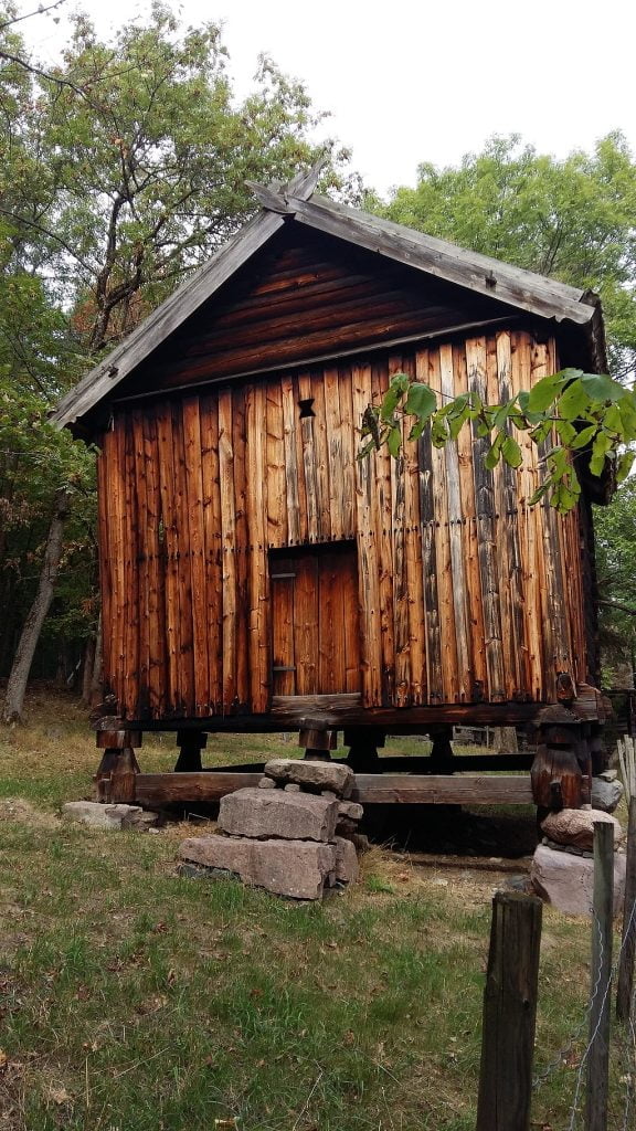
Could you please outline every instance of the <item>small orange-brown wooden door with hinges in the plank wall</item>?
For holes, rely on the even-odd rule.
[[[355,546],[272,553],[269,580],[273,694],[361,691]]]

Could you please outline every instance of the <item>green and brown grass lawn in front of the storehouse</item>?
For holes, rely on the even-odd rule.
[[[210,739],[207,761],[293,741]],[[140,753],[170,769],[173,740]],[[89,795],[96,760],[63,696],[34,693],[27,725],[0,734],[1,1131],[474,1131],[502,875],[376,848],[362,882],[321,906],[179,878],[191,827],[59,818]],[[536,1128],[569,1123],[588,941],[587,924],[545,908],[535,1067],[557,1069]]]

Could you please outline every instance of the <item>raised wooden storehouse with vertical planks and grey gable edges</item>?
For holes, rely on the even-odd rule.
[[[341,729],[369,769],[386,732],[428,732],[439,756],[453,724],[561,700],[579,742],[601,717],[601,484],[565,517],[530,508],[532,442],[518,472],[489,472],[469,428],[356,458],[396,371],[490,403],[562,365],[605,371],[596,297],[315,181],[253,187],[255,218],[57,413],[100,448],[106,774],[144,731],[177,731],[194,771],[208,732]]]

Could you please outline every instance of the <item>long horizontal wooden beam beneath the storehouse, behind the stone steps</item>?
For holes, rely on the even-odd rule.
[[[261,776],[215,770],[136,774],[134,800],[147,809],[214,803],[234,789],[258,785]],[[527,774],[356,774],[351,800],[362,805],[531,805],[532,788]]]

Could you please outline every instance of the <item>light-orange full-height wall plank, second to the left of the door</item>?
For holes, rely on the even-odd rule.
[[[269,442],[269,421],[267,424]],[[232,390],[218,394],[218,482],[221,487],[221,560],[223,584],[223,710],[231,709],[237,692],[237,509],[234,449],[232,442]]]

